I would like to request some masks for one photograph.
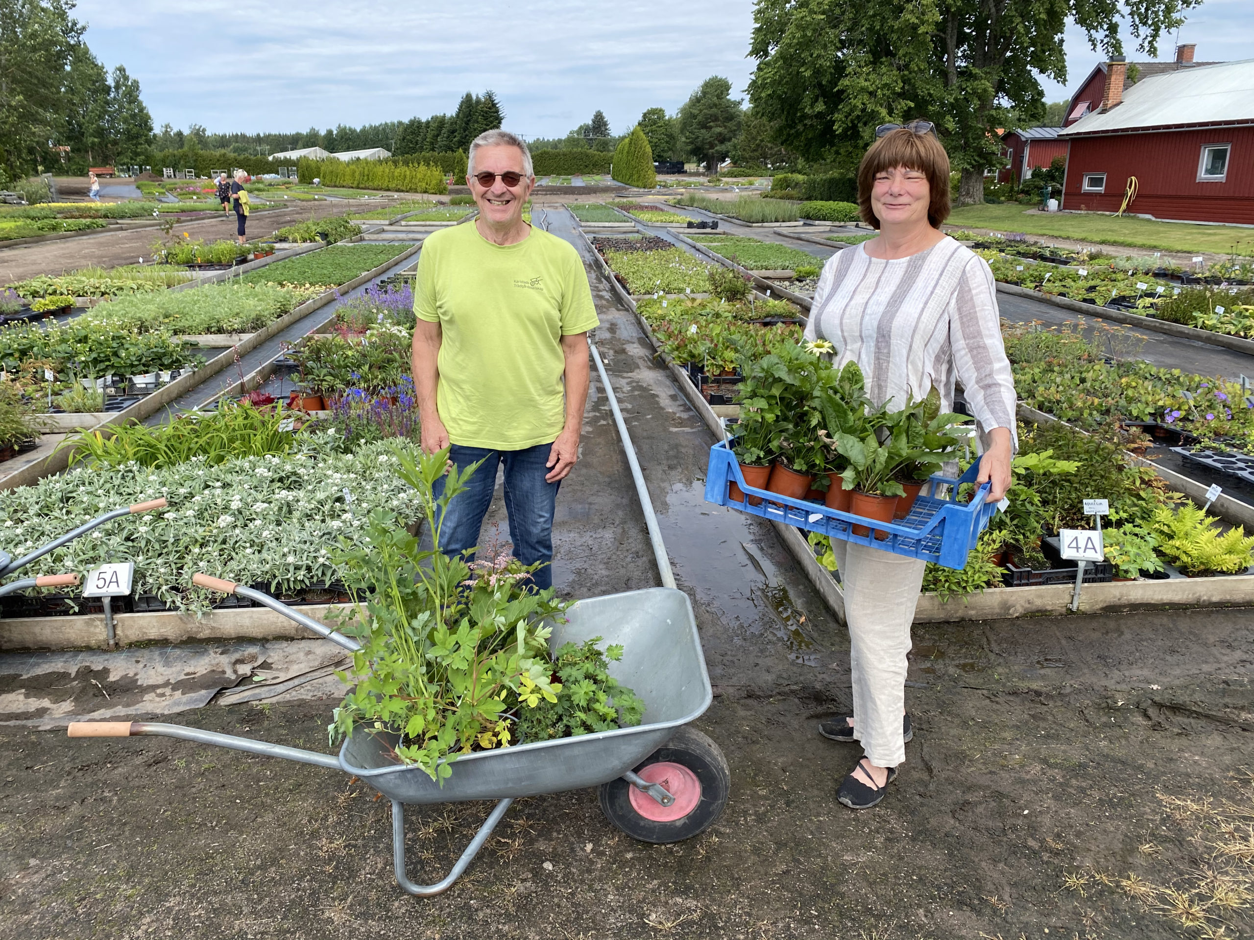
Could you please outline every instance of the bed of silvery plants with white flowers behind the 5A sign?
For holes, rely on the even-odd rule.
[[[296,593],[340,580],[331,553],[366,544],[370,513],[416,518],[414,490],[396,476],[396,455],[416,446],[377,442],[340,454],[334,435],[314,435],[298,455],[80,467],[0,493],[0,549],[20,555],[110,509],[164,496],[164,513],[115,519],[35,561],[31,577],[134,561],[137,595],[194,613],[217,599],[191,587],[197,572]]]

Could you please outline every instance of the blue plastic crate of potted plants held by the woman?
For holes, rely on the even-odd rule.
[[[821,503],[793,499],[779,493],[749,486],[745,484],[745,478],[740,473],[731,447],[727,441],[724,441],[710,449],[705,498],[706,503],[760,515],[762,519],[771,519],[785,525],[795,525],[798,529],[816,531],[833,539],[872,545],[883,551],[892,551],[894,555],[922,558],[946,568],[962,569],[967,565],[967,553],[976,546],[979,533],[988,528],[988,520],[997,511],[996,503],[984,501],[989,490],[987,483],[979,486],[971,503],[959,503],[957,499],[958,484],[974,483],[978,473],[979,464],[972,464],[967,473],[957,480],[933,475],[929,493],[934,494],[939,485],[947,484],[949,486],[948,498],[940,499],[934,495],[919,494],[905,519],[882,523],[853,513],[828,509]],[[745,493],[744,501],[732,500],[727,495],[727,488],[732,481]],[[756,506],[750,505],[749,496],[761,496],[762,503]],[[870,531],[865,535],[855,535],[854,524],[868,525]],[[887,531],[888,538],[877,539],[877,530]]]

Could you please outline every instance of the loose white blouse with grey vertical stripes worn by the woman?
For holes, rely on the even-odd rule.
[[[952,411],[962,381],[981,442],[994,427],[1014,436],[1014,381],[993,273],[953,238],[894,261],[873,258],[861,244],[828,258],[805,338],[831,342],[838,367],[856,362],[877,405],[903,407],[934,387],[942,410]]]

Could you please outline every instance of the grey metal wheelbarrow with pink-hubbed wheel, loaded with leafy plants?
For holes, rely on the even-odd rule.
[[[360,648],[352,638],[260,590],[203,574],[192,580],[202,588],[261,603],[345,649]],[[606,818],[632,838],[653,843],[691,838],[722,813],[730,787],[727,762],[714,741],[686,727],[710,707],[712,698],[687,595],[673,588],[648,588],[579,600],[566,610],[564,623],[554,623],[549,644],[556,650],[563,643],[582,644],[593,637],[623,645],[623,658],[611,663],[609,672],[643,699],[646,711],[640,726],[464,755],[450,762],[453,773],[443,786],[421,768],[396,761],[394,734],[366,728],[357,728],[337,757],[150,722],[74,722],[69,736],[158,734],[359,777],[391,801],[396,882],[409,894],[425,897],[446,891],[461,876],[520,797],[599,787]],[[431,885],[410,881],[405,866],[405,805],[474,800],[495,800],[497,806],[453,870]]]

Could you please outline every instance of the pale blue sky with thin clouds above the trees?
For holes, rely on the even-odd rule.
[[[158,128],[357,127],[451,112],[490,88],[505,128],[528,138],[561,137],[598,108],[618,133],[646,108],[673,112],[710,75],[740,94],[752,71],[751,0],[79,0],[75,15],[97,56],[139,79]],[[1208,0],[1180,41],[1196,43],[1199,60],[1249,58],[1254,3]],[[1174,45],[1165,38],[1160,58]],[[1068,30],[1068,83],[1045,83],[1047,99],[1067,98],[1099,59]]]

